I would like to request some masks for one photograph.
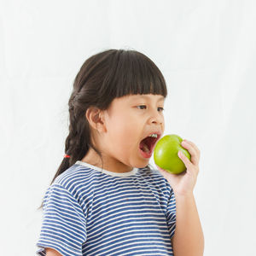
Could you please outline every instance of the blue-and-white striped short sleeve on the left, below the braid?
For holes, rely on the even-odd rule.
[[[37,242],[37,254],[45,247],[63,256],[80,256],[86,241],[86,220],[79,202],[59,183],[53,183],[44,195],[44,218]]]

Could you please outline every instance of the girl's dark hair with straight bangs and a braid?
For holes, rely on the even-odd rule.
[[[114,98],[137,94],[167,96],[166,81],[148,56],[134,49],[108,49],[84,61],[68,101],[65,152],[70,158],[63,158],[50,184],[77,160],[82,160],[90,147],[102,159],[101,152],[91,143],[90,125],[84,114],[87,108],[106,110]],[[43,202],[38,209],[41,207]]]

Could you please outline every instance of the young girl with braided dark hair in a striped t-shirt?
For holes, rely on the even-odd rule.
[[[69,106],[66,154],[41,205],[38,255],[203,254],[193,189],[200,151],[174,175],[148,165],[165,130],[166,82],[136,50],[86,60]],[[146,140],[144,140],[147,137]]]

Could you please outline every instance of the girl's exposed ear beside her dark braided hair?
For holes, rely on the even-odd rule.
[[[101,109],[92,107],[87,108],[85,117],[88,120],[90,126],[94,128],[96,131],[107,131],[104,115]]]

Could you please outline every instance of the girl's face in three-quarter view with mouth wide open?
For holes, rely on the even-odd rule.
[[[164,97],[160,95],[130,95],[113,100],[104,113],[106,131],[100,139],[101,149],[112,163],[120,168],[122,164],[137,168],[148,165],[149,158],[140,153],[139,144],[150,132],[160,131],[162,136],[162,108]]]

